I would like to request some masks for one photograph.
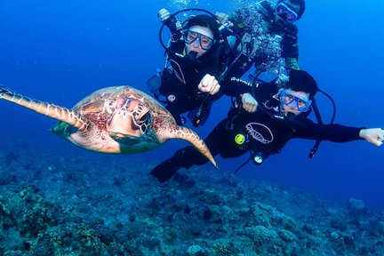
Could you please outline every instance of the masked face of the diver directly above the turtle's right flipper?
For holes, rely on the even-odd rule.
[[[196,58],[204,55],[213,44],[213,33],[210,28],[205,28],[202,26],[192,26],[188,29],[189,34],[186,38],[186,51],[196,52]],[[194,33],[195,32],[195,33]],[[190,43],[188,43],[190,42]]]

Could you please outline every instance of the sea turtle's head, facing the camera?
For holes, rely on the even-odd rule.
[[[151,115],[148,106],[140,100],[117,98],[106,102],[107,131],[114,140],[135,144],[145,140],[150,129]]]

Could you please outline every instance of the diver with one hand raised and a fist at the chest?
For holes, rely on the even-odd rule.
[[[202,125],[212,102],[222,95],[220,80],[235,55],[222,39],[220,21],[213,14],[196,15],[181,23],[174,14],[161,9],[158,17],[170,29],[172,36],[170,45],[166,47],[166,67],[147,82],[148,85],[156,84],[160,76],[158,91],[156,85],[152,90],[149,86],[149,90],[157,100],[164,96],[165,100],[160,101],[165,103],[177,124],[186,123],[181,114],[189,112],[192,124]],[[162,39],[160,41],[162,43]],[[199,118],[195,118],[196,113]]]

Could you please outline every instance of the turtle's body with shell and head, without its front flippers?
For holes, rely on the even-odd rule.
[[[52,131],[80,147],[105,153],[125,154],[156,148],[161,143],[157,130],[176,124],[156,100],[126,85],[93,92],[72,111],[88,121],[86,132],[63,122]]]

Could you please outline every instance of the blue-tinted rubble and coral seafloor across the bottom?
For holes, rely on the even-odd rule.
[[[384,255],[384,213],[358,199],[207,165],[161,185],[156,159],[89,154],[0,146],[0,255]]]

